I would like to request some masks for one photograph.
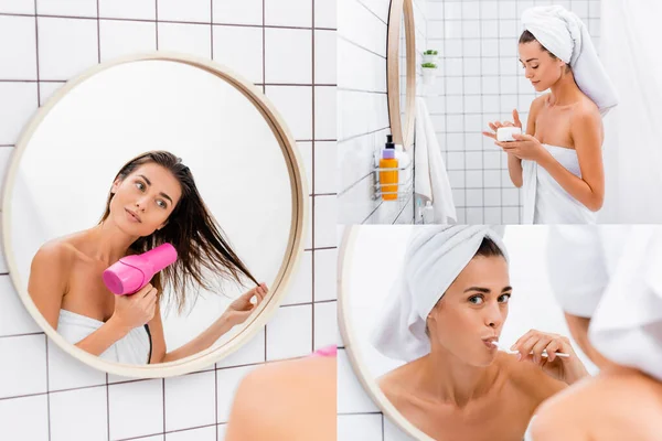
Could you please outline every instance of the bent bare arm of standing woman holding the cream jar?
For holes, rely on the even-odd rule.
[[[601,126],[597,111],[580,111],[573,118],[570,135],[579,159],[581,178],[569,172],[551,154],[543,155],[538,161],[566,192],[592,212],[600,209],[605,201]]]

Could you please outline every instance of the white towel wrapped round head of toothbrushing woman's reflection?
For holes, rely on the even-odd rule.
[[[416,227],[373,331],[374,347],[387,357],[404,362],[428,354],[427,315],[471,261],[484,237],[492,239],[508,256],[501,236],[484,225]]]

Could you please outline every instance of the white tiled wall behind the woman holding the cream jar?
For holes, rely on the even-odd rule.
[[[428,46],[439,51],[437,84],[428,97],[460,224],[519,224],[520,190],[508,175],[505,154],[481,135],[488,121],[526,125],[538,96],[517,61],[522,12],[560,4],[587,23],[599,46],[600,0],[428,0]]]

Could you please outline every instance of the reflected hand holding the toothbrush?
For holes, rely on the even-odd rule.
[[[545,374],[568,385],[588,375],[570,341],[563,335],[531,330],[512,345],[511,351],[520,353],[517,359],[535,363]],[[547,353],[546,357],[543,356],[543,351]],[[569,357],[559,357],[557,352],[568,354]]]

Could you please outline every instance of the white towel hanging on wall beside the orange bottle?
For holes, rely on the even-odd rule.
[[[416,98],[416,107],[414,193],[423,198],[423,205],[431,201],[435,224],[455,224],[457,213],[450,181],[425,99]]]

